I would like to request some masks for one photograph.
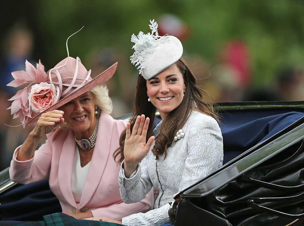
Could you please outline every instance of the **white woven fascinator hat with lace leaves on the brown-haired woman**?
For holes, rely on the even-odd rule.
[[[132,35],[131,42],[134,53],[130,56],[133,65],[138,66],[139,74],[144,79],[153,78],[155,75],[176,63],[183,54],[181,41],[172,35],[159,36],[158,24],[150,20],[150,32]]]

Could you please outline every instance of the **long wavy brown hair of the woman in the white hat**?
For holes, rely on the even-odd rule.
[[[197,80],[193,75],[193,72],[186,64],[183,58],[180,58],[175,63],[179,70],[181,71],[184,83],[186,86],[185,95],[181,104],[175,108],[170,114],[163,120],[161,124],[161,131],[155,137],[155,145],[152,148],[152,152],[155,155],[155,159],[159,158],[159,155],[167,156],[167,150],[172,145],[174,140],[174,135],[176,132],[182,128],[192,109],[200,111],[206,115],[209,115],[219,121],[218,115],[213,110],[213,103],[210,96],[206,93],[205,90],[197,85]],[[150,124],[148,127],[146,141],[149,139],[153,129],[153,121],[156,113],[156,108],[151,102],[147,101],[147,85],[146,80],[138,75],[136,88],[135,88],[135,105],[133,108],[133,113],[130,118],[131,123],[131,133],[136,120],[137,115],[145,115],[150,118]],[[126,130],[120,135],[119,148],[114,152],[113,157],[116,157],[120,154],[119,162],[122,162],[124,159],[123,148],[126,138]]]

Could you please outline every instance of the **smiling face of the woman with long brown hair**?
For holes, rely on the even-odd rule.
[[[181,104],[186,86],[176,64],[148,79],[146,84],[150,101],[158,109],[162,119]]]

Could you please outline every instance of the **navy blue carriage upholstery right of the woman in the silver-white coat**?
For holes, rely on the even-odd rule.
[[[275,135],[304,116],[303,112],[286,110],[229,111],[221,118],[223,164],[254,145]]]

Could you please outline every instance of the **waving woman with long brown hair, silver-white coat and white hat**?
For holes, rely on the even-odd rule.
[[[140,69],[133,117],[116,152],[122,162],[119,189],[124,202],[142,200],[152,186],[159,190],[154,209],[131,214],[124,225],[160,225],[169,221],[174,194],[206,177],[223,163],[223,138],[206,92],[181,58],[178,38],[157,33],[134,34],[131,60]],[[162,121],[154,131],[156,111]],[[94,218],[90,218],[94,219]],[[97,219],[97,218],[95,218]]]

